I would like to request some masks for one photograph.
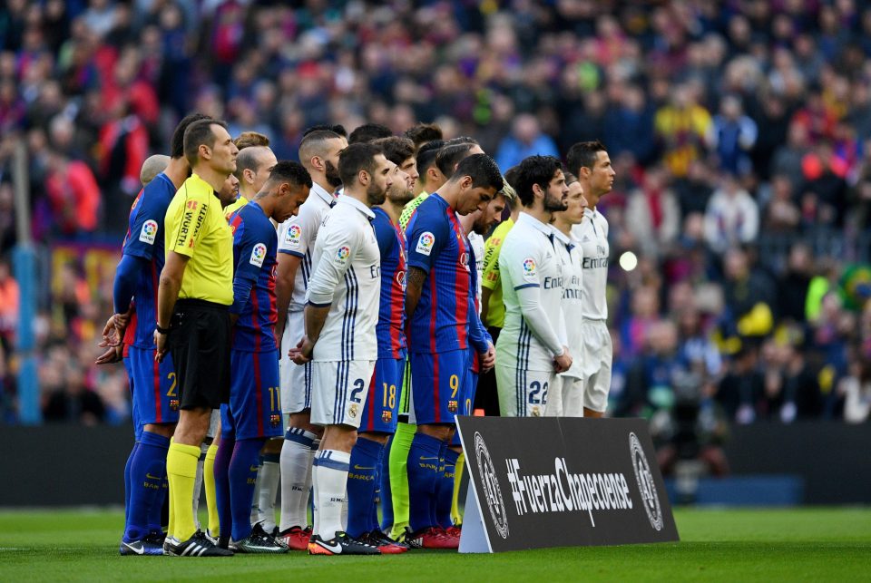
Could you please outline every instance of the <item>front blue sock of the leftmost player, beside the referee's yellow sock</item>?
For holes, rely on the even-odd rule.
[[[149,533],[152,506],[161,503],[166,454],[170,440],[152,432],[142,432],[139,447],[130,464],[130,511],[124,540],[140,540]]]

